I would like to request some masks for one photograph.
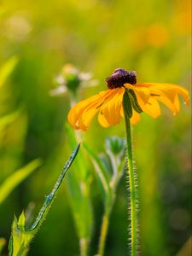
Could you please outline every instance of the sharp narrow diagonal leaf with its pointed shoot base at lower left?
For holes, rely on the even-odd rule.
[[[24,256],[28,250],[28,245],[32,241],[32,238],[38,232],[41,224],[43,224],[44,219],[46,218],[49,208],[51,207],[54,199],[55,193],[60,188],[61,182],[66,175],[67,170],[72,165],[73,160],[79,152],[80,144],[73,150],[70,158],[67,160],[67,163],[63,167],[63,170],[58,177],[54,188],[51,193],[45,196],[44,205],[38,212],[38,218],[32,224],[32,227],[26,230],[26,217],[24,212],[21,213],[19,220],[15,217],[12,224],[12,234],[9,240],[9,256]]]

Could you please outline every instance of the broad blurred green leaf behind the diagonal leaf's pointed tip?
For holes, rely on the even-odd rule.
[[[69,125],[66,125],[66,131],[69,147],[72,148],[77,143],[75,133]],[[83,239],[89,243],[93,227],[93,211],[90,201],[90,172],[82,150],[74,163],[73,172],[69,172],[67,176],[67,185],[79,241]]]

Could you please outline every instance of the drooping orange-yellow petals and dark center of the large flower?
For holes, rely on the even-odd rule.
[[[125,91],[132,98],[132,124],[137,124],[141,112],[148,113],[154,119],[159,117],[159,102],[163,102],[173,114],[178,113],[180,106],[178,94],[183,96],[186,104],[189,104],[189,92],[183,87],[164,83],[137,84],[136,73],[127,72],[122,68],[116,69],[106,81],[108,90],[77,103],[70,110],[68,121],[74,129],[86,131],[96,113],[103,127],[118,124],[120,116],[124,117],[122,101]],[[137,108],[133,105],[137,105]]]

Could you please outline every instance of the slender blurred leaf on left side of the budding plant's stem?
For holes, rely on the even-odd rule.
[[[106,170],[105,166],[102,163],[102,160],[96,155],[94,150],[85,143],[83,145],[93,160],[93,164],[96,170],[97,182],[99,184],[99,188],[101,189],[102,200],[104,205],[106,205],[106,201],[108,201],[108,196],[111,193],[109,184],[110,177],[108,171]]]

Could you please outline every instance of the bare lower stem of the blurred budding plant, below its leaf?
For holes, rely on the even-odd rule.
[[[101,235],[99,240],[99,249],[98,249],[98,253],[96,254],[97,256],[103,256],[103,253],[104,253],[105,242],[108,234],[109,216],[110,216],[110,211],[106,209],[102,218],[102,230],[101,230]]]

